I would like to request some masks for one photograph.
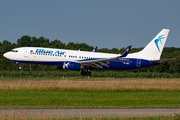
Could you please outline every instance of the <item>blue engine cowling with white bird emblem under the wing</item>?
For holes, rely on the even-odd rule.
[[[79,71],[81,69],[81,64],[75,63],[75,62],[64,62],[63,69],[64,70],[78,70]]]

